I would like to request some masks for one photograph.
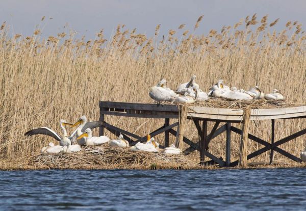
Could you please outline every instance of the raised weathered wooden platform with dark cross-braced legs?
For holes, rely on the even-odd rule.
[[[160,146],[161,148],[169,146],[169,135],[171,134],[176,136],[177,131],[174,130],[173,127],[179,126],[178,121],[170,125],[170,119],[179,118],[179,107],[177,105],[99,101],[99,108],[100,120],[102,121],[105,121],[105,115],[164,119],[164,125],[150,133],[151,137],[165,133],[165,146]],[[188,138],[184,137],[183,141],[190,146],[184,150],[185,154],[189,154],[194,150],[198,150],[200,152],[201,161],[204,161],[205,156],[208,156],[214,163],[219,164],[221,167],[238,165],[238,161],[231,162],[231,133],[234,132],[241,135],[243,131],[237,127],[232,126],[231,123],[239,123],[243,121],[243,111],[241,109],[218,109],[193,106],[188,109],[187,118],[193,120],[198,131],[199,142],[194,143]],[[247,160],[270,150],[271,164],[273,162],[274,151],[281,153],[282,155],[295,162],[301,162],[298,157],[279,148],[279,146],[306,134],[306,128],[297,131],[296,133],[281,140],[274,140],[275,120],[295,118],[306,118],[306,106],[281,109],[252,109],[250,114],[251,121],[271,120],[271,140],[268,142],[266,140],[260,139],[259,137],[248,134],[248,139],[257,142],[264,147],[248,154]],[[208,133],[207,126],[209,121],[215,122],[210,133]],[[136,134],[130,133],[129,131],[110,125],[107,122],[105,122],[104,127],[100,127],[100,136],[104,135],[104,129],[109,130],[116,136],[119,136],[121,133],[131,145],[135,145],[139,141],[146,141],[145,136],[138,136]],[[223,160],[222,157],[217,157],[208,151],[210,141],[223,132],[226,133],[225,160]]]

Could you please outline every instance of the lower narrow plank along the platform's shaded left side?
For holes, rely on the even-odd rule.
[[[105,115],[112,115],[112,116],[122,116],[122,117],[136,117],[136,118],[155,118],[155,119],[164,119],[164,118],[169,118],[169,119],[177,119],[178,118],[178,113],[151,113],[151,114],[128,114],[128,113],[121,113],[121,112],[110,112],[110,111],[100,111],[101,114]]]

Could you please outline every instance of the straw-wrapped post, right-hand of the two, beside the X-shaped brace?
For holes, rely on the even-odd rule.
[[[242,123],[242,134],[240,140],[240,153],[239,153],[239,168],[247,168],[247,140],[248,140],[248,126],[250,123],[251,110],[243,110],[243,123]]]

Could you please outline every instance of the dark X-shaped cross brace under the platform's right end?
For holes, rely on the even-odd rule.
[[[234,131],[234,130],[236,130],[238,128],[235,128],[235,127],[232,126],[231,129],[232,129],[232,131]],[[239,129],[237,131],[239,132]],[[261,139],[255,137],[255,136],[252,136],[252,135],[249,134],[249,136],[248,136],[249,139],[251,139],[253,141],[256,141],[256,142],[258,142],[260,144],[263,144],[263,145],[265,145],[265,147],[261,148],[261,149],[259,149],[257,151],[254,151],[253,153],[250,153],[249,155],[247,155],[247,160],[252,159],[253,157],[256,157],[256,156],[258,156],[258,155],[260,155],[260,154],[262,154],[262,153],[264,153],[264,152],[266,152],[266,151],[268,151],[268,150],[273,148],[278,153],[281,153],[281,154],[285,155],[286,157],[288,157],[289,159],[291,159],[293,161],[302,162],[302,160],[299,159],[298,157],[296,157],[296,156],[286,152],[285,150],[283,150],[281,148],[278,148],[277,146],[285,144],[286,142],[291,141],[291,140],[293,140],[293,139],[295,139],[295,138],[297,138],[299,136],[302,136],[304,134],[306,134],[306,129],[300,130],[300,131],[298,131],[295,134],[292,134],[292,135],[290,135],[290,136],[288,136],[286,138],[283,138],[283,139],[281,139],[281,140],[279,140],[277,142],[274,142],[273,144],[270,144],[270,143],[268,143],[268,142],[266,142],[264,140],[261,140]],[[237,164],[238,164],[238,161],[235,161],[235,162],[231,163],[231,166],[237,166]]]

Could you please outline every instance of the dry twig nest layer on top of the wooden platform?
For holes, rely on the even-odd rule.
[[[167,102],[166,104],[173,104]],[[185,103],[186,104],[186,103]],[[270,109],[270,108],[288,108],[300,105],[306,105],[292,100],[267,100],[267,99],[253,99],[253,100],[229,100],[225,98],[211,97],[206,101],[196,101],[187,103],[189,107],[200,106],[208,108],[220,109]]]

